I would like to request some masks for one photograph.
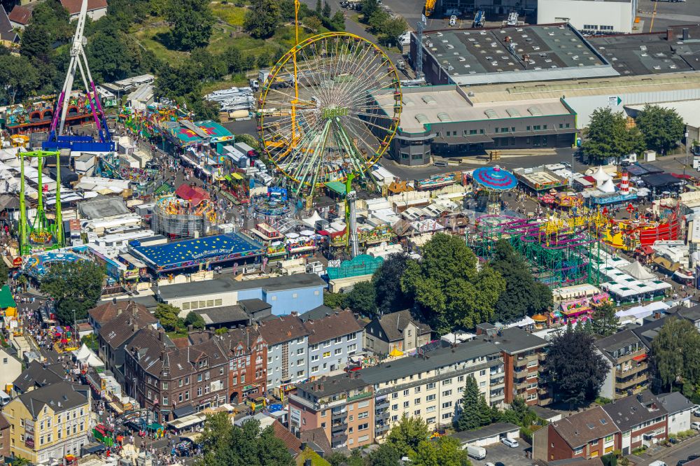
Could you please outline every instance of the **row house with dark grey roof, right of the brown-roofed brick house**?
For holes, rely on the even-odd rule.
[[[640,446],[650,446],[668,438],[668,411],[648,391],[605,404],[603,409],[622,432],[616,449],[621,449],[624,455]]]

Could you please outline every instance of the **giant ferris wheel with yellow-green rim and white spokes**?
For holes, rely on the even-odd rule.
[[[287,52],[258,101],[260,146],[312,195],[351,173],[364,176],[398,127],[401,89],[391,59],[344,32],[318,34]]]

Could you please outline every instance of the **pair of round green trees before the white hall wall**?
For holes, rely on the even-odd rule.
[[[645,148],[663,155],[677,146],[683,136],[685,124],[672,108],[646,105],[635,119],[636,125],[628,127],[622,112],[610,107],[598,108],[591,115],[582,152],[591,162],[601,162],[610,157],[630,153],[641,154]]]

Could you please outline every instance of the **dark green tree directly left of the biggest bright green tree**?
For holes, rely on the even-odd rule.
[[[381,313],[402,311],[413,306],[411,297],[401,289],[401,277],[409,262],[415,262],[406,253],[390,254],[372,275],[377,307]]]

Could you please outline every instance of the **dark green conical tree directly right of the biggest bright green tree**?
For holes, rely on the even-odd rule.
[[[553,305],[552,290],[535,281],[528,263],[508,241],[496,242],[491,267],[505,279],[505,291],[496,302],[494,320],[509,322],[533,316]]]

